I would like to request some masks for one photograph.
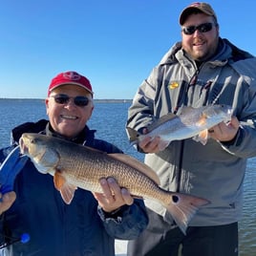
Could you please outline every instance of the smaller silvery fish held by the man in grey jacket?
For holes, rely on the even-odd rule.
[[[132,144],[138,143],[145,137],[160,137],[160,150],[163,150],[173,140],[193,138],[203,145],[208,139],[208,129],[231,119],[232,108],[227,105],[208,105],[200,108],[183,106],[174,115],[169,113],[160,117],[148,127],[148,133],[140,135],[134,129],[127,127]]]

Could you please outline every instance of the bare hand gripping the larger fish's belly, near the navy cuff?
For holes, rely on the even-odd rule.
[[[95,192],[93,194],[105,212],[112,212],[124,204],[131,205],[134,203],[129,191],[119,187],[114,178],[101,179],[99,182],[103,193]]]

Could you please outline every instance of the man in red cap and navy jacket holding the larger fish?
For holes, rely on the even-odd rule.
[[[24,123],[12,130],[14,144],[30,132],[121,153],[113,144],[96,139],[96,131],[87,125],[94,102],[85,76],[76,72],[56,75],[49,86],[46,109],[49,120]],[[11,148],[0,150],[0,162]],[[3,255],[115,256],[115,238],[135,239],[148,222],[143,202],[133,199],[113,178],[100,180],[102,194],[77,188],[72,203],[66,204],[51,176],[40,174],[30,160],[20,168],[13,191],[0,194]],[[27,242],[26,236],[25,244],[24,238],[17,239],[24,232],[31,237]]]

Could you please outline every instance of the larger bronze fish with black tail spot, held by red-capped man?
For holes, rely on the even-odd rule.
[[[202,198],[163,190],[152,169],[125,154],[106,154],[65,139],[38,134],[23,134],[20,148],[39,172],[53,175],[54,185],[65,203],[72,202],[77,187],[102,192],[98,181],[113,177],[134,197],[164,205],[184,233],[199,207],[209,203]]]

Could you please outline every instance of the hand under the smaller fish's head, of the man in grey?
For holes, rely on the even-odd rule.
[[[230,141],[236,137],[239,130],[239,125],[240,123],[238,118],[231,117],[229,122],[221,122],[209,129],[209,135],[212,139],[219,141]]]

